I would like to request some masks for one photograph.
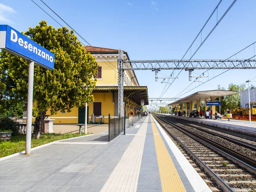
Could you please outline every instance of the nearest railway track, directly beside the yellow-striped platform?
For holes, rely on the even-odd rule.
[[[256,192],[256,160],[175,125],[170,119],[154,117],[212,191]]]

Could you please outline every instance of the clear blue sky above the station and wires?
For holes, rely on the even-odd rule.
[[[58,19],[40,0],[35,0],[43,9]],[[140,59],[181,59],[194,40],[219,0],[44,0],[55,12],[67,21],[91,45],[123,49],[131,60]],[[218,8],[218,18],[223,15],[233,0],[223,0]],[[34,27],[41,20],[55,28],[60,27],[31,0],[1,0],[0,23],[9,24],[19,31]],[[5,5],[5,6],[3,6]],[[209,36],[193,57],[195,59],[226,59],[256,41],[255,24],[256,0],[237,0],[221,23]],[[216,23],[216,13],[203,31],[203,38]],[[85,43],[85,42],[83,42]],[[199,41],[192,47],[198,47]],[[253,47],[233,58],[250,58]],[[189,58],[186,55],[186,59]],[[224,70],[211,70],[204,74],[212,78]],[[202,70],[192,73],[201,74]],[[162,70],[158,76],[169,76],[171,71]],[[178,71],[175,71],[177,74]],[[154,81],[154,72],[136,71],[140,85],[148,86],[149,97],[159,97],[165,84]],[[181,72],[179,79],[171,85],[163,97],[175,97],[192,81],[188,72]],[[182,95],[200,90],[228,87],[241,84],[256,76],[256,70],[230,70],[212,81]],[[208,78],[201,78],[207,81]],[[194,83],[186,91],[197,86]],[[256,82],[252,81],[252,84]]]

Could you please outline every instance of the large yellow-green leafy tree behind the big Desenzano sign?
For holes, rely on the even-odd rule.
[[[45,70],[35,65],[33,116],[35,130],[33,137],[39,138],[47,110],[51,115],[58,111],[70,112],[73,107],[92,102],[92,89],[96,84],[98,64],[87,54],[73,30],[62,27],[55,29],[41,21],[35,28],[24,32],[26,36],[55,54],[54,70]],[[2,51],[0,53],[0,76],[3,83],[11,79],[13,99],[27,100],[28,61]]]

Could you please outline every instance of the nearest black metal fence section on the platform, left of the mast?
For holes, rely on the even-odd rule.
[[[124,117],[111,117],[108,114],[108,141],[113,140],[116,136],[124,131]]]

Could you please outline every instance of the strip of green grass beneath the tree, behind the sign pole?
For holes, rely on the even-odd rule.
[[[81,136],[86,135],[84,133]],[[31,148],[37,147],[39,145],[44,145],[57,140],[64,140],[72,137],[79,137],[76,134],[41,134],[41,137],[36,139],[31,139]],[[15,154],[20,151],[25,150],[26,145],[26,134],[12,136],[10,140],[0,140],[0,157],[5,157],[10,154]]]

